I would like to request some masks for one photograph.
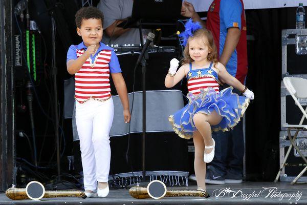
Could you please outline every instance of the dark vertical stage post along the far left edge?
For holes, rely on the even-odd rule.
[[[12,1],[0,0],[0,191],[16,183]]]

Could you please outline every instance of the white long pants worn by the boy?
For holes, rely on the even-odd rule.
[[[76,103],[84,189],[96,191],[97,181],[107,182],[111,161],[109,131],[113,121],[113,99],[90,99]]]

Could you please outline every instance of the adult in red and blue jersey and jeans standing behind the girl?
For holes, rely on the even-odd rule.
[[[201,22],[212,32],[219,61],[245,84],[247,75],[246,18],[242,0],[214,0],[203,22],[192,4],[183,2],[181,14]],[[223,89],[223,88],[221,88]],[[235,89],[233,90],[236,91]],[[240,122],[229,132],[212,133],[215,156],[207,167],[206,183],[241,183],[243,178],[244,137]]]

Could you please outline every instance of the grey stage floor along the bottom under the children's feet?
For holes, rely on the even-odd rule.
[[[196,189],[189,181],[189,187],[168,187],[168,190]],[[307,184],[290,185],[290,182],[244,182],[241,184],[207,185],[209,198],[165,197],[162,199],[135,199],[126,189],[110,190],[107,198],[43,198],[40,201],[11,200],[0,194],[0,204],[307,204]]]

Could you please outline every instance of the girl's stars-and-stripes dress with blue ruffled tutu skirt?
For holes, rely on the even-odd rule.
[[[218,125],[211,126],[212,131],[229,131],[240,121],[249,105],[249,99],[232,93],[232,87],[219,90],[218,75],[209,68],[192,70],[187,74],[187,98],[189,103],[170,115],[170,121],[173,130],[182,138],[190,139],[196,127],[193,122],[193,116],[196,113],[210,114],[215,110],[223,118]]]

